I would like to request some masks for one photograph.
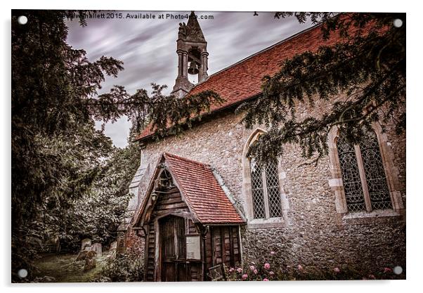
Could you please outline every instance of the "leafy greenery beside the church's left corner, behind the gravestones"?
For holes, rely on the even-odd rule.
[[[129,199],[129,183],[139,164],[137,145],[117,149],[100,172],[89,193],[76,200],[67,211],[67,233],[77,241],[97,236],[98,241],[115,240],[117,226],[122,219]]]

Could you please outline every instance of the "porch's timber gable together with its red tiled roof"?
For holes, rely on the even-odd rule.
[[[135,225],[166,213],[189,213],[202,224],[245,223],[209,165],[168,153],[157,164]]]

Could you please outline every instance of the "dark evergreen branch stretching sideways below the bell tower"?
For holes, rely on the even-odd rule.
[[[209,112],[211,105],[223,103],[223,99],[214,91],[202,91],[195,95],[177,98],[164,96],[162,91],[166,85],[151,84],[152,95],[145,89],[137,90],[134,95],[126,92],[123,86],[114,86],[110,93],[91,100],[88,107],[96,119],[116,121],[127,115],[136,124],[138,133],[143,126],[156,130],[156,138],[169,134],[178,134],[191,123],[201,119],[201,115]]]

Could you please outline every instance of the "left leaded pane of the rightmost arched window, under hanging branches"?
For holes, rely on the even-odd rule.
[[[360,171],[358,171],[356,151],[353,145],[343,137],[339,138],[337,149],[346,207],[349,211],[365,211],[363,185],[361,185]]]

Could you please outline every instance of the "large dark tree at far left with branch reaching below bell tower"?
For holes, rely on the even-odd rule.
[[[116,121],[122,115],[139,128],[149,119],[157,129],[169,121],[187,121],[220,103],[208,92],[178,99],[164,96],[164,86],[153,85],[134,94],[123,86],[98,95],[105,76],[117,77],[121,61],[102,56],[93,62],[84,50],[66,43],[65,19],[86,25],[91,11],[12,11],[12,269],[28,268],[32,251],[27,241],[33,221],[46,209],[58,216],[89,192],[112,145],[94,120]],[[18,24],[18,16],[28,18]],[[176,112],[176,110],[178,110]],[[14,275],[15,276],[15,275]]]

